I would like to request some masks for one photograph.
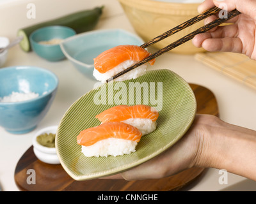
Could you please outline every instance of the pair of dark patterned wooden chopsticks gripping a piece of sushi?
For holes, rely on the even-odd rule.
[[[221,11],[220,8],[213,7],[211,9],[205,11],[204,13],[202,13],[200,15],[197,15],[196,17],[191,18],[190,20],[178,25],[177,27],[174,27],[173,29],[170,29],[169,31],[166,31],[166,33],[163,33],[163,34],[157,36],[156,38],[148,41],[147,43],[144,43],[143,45],[141,45],[141,47],[146,48],[150,45],[153,45],[154,43],[157,43],[158,41],[161,41],[164,38],[167,38],[167,37],[171,36],[172,34],[175,34],[179,31],[181,31],[182,29],[185,29],[186,27],[189,27],[189,26],[195,24],[196,22],[199,22],[200,20],[203,20],[204,18],[207,18],[211,15],[214,15],[215,13],[218,13],[220,11]],[[137,62],[133,66],[131,66],[131,67],[125,69],[124,71],[121,71],[120,73],[116,74],[115,76],[109,78],[108,80],[106,80],[106,83],[111,82],[112,80],[115,80],[115,78],[118,78],[118,77],[124,75],[125,73],[131,71],[132,69],[135,69],[138,66],[141,66],[142,64],[145,64],[146,62],[148,62],[148,61],[150,61],[150,60],[152,60],[156,57],[159,57],[159,55],[162,55],[165,52],[168,52],[168,51],[172,50],[173,48],[178,47],[179,45],[182,45],[183,43],[186,43],[186,41],[189,41],[189,40],[193,39],[196,36],[196,34],[205,33],[207,31],[211,30],[212,28],[222,24],[223,22],[226,22],[227,20],[236,17],[239,14],[241,14],[241,13],[237,10],[233,10],[233,11],[228,12],[227,17],[217,18],[216,20],[210,22],[209,24],[206,24],[206,25],[200,27],[196,31],[193,31],[192,33],[187,34],[183,38],[180,38],[179,40],[171,43],[170,45],[162,48],[161,50],[158,50],[154,54],[146,57],[142,61]]]

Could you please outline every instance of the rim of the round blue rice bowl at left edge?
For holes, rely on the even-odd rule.
[[[52,71],[49,71],[48,69],[39,68],[39,67],[36,67],[36,66],[9,66],[9,67],[6,67],[6,68],[1,68],[0,73],[1,73],[1,71],[6,70],[6,69],[38,69],[40,71],[44,71],[46,73],[49,73],[52,76],[52,78],[55,78],[56,85],[51,91],[48,91],[46,94],[38,96],[36,98],[29,99],[29,100],[26,100],[26,101],[18,101],[18,102],[0,102],[0,105],[20,105],[20,104],[24,104],[24,103],[30,103],[30,102],[37,101],[39,99],[45,98],[45,96],[49,96],[49,94],[52,94],[52,92],[54,92],[56,89],[58,89],[59,79],[58,79],[57,75],[55,75]]]

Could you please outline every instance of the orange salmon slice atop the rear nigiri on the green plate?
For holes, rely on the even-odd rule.
[[[152,108],[147,105],[119,105],[104,110],[104,112],[96,115],[96,118],[100,122],[121,122],[127,119],[151,119],[156,121],[159,116],[159,113],[155,108]]]

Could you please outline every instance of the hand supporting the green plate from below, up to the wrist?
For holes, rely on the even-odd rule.
[[[160,179],[194,166],[201,151],[200,138],[208,134],[203,127],[207,122],[212,124],[213,120],[215,117],[211,115],[196,115],[188,133],[173,147],[132,170],[107,177],[107,179]]]

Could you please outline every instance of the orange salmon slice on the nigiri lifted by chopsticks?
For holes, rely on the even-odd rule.
[[[124,61],[141,61],[149,55],[151,55],[150,52],[138,45],[119,45],[102,52],[93,59],[94,68],[97,69],[99,73],[106,73]],[[152,59],[148,63],[153,65],[155,61],[156,59]]]

